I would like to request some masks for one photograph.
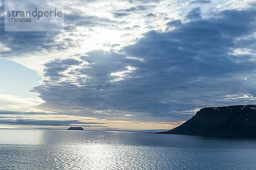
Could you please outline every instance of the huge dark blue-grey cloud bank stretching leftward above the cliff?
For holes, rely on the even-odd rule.
[[[49,62],[44,74],[50,81],[33,91],[50,107],[116,109],[133,113],[130,119],[136,120],[143,115],[185,120],[195,108],[255,100],[255,56],[234,54],[236,48],[256,50],[255,9],[203,18],[200,8],[193,8],[183,22],[167,26],[175,29],[150,31],[121,54],[91,51],[80,58],[88,65],[73,61],[81,66],[70,72],[75,82],[59,81],[70,65]]]

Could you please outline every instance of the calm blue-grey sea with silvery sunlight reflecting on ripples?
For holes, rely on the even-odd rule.
[[[256,140],[0,130],[0,170],[255,170]]]

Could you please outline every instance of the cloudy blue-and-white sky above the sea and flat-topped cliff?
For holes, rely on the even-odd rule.
[[[171,129],[255,104],[255,0],[63,0],[61,31],[4,31],[0,128]]]

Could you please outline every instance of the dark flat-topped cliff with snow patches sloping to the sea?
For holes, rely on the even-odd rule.
[[[256,137],[256,105],[202,108],[167,134]]]

